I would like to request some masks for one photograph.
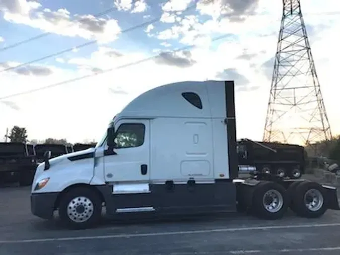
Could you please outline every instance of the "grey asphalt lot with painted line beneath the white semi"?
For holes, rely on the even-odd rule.
[[[247,215],[184,219],[103,220],[67,230],[30,212],[28,187],[0,188],[1,255],[79,254],[340,254],[340,212],[278,221]]]

